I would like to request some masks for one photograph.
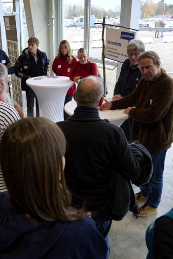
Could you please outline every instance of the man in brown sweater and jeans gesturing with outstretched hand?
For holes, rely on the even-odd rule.
[[[121,100],[102,104],[100,110],[125,109],[134,119],[132,140],[139,140],[151,154],[153,179],[135,194],[140,207],[139,217],[157,213],[163,186],[166,151],[173,141],[173,79],[160,67],[156,52],[147,51],[137,59],[143,77],[137,88]]]

